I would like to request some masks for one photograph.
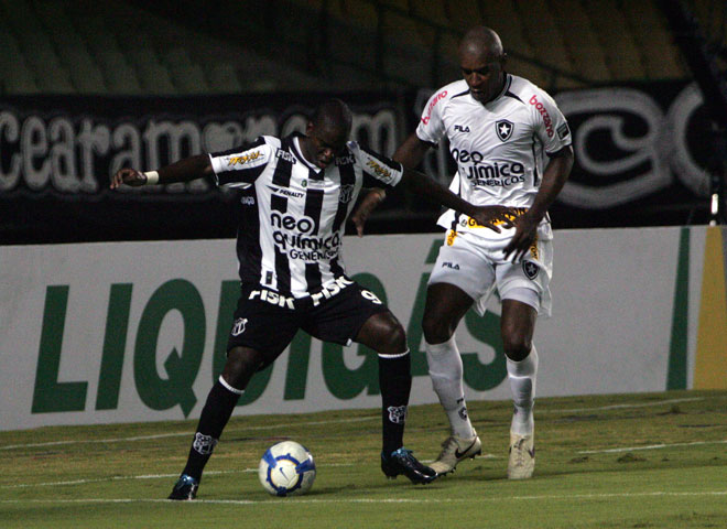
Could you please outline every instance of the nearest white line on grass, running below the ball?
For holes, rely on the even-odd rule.
[[[175,504],[175,505],[268,505],[280,508],[284,505],[296,504],[452,504],[452,503],[492,503],[492,501],[522,501],[522,500],[565,500],[607,498],[649,498],[649,497],[696,497],[696,496],[727,496],[727,490],[702,492],[666,492],[654,490],[650,493],[606,493],[606,494],[547,494],[531,496],[498,496],[471,498],[348,498],[348,499],[319,499],[319,498],[285,498],[284,501],[252,500],[252,499],[195,499],[194,501],[171,501],[169,499],[143,498],[76,498],[76,499],[0,499],[0,504]]]

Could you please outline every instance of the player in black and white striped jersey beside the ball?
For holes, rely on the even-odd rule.
[[[378,353],[382,400],[381,469],[430,483],[437,474],[403,446],[411,389],[404,330],[370,291],[346,277],[340,246],[361,186],[406,186],[499,230],[507,208],[473,206],[432,179],[348,141],[351,112],[321,105],[305,134],[261,137],[252,145],[199,154],[158,171],[122,169],[111,179],[149,185],[214,177],[241,191],[237,253],[241,292],[227,361],[202,410],[187,464],[170,499],[194,499],[205,464],[250,377],[287,347],[299,328],[323,341]]]

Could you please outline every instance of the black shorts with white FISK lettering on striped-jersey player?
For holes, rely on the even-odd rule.
[[[227,350],[250,347],[269,366],[299,328],[323,342],[350,345],[373,314],[389,309],[356,281],[339,278],[333,288],[308,298],[284,298],[259,284],[242,284]]]

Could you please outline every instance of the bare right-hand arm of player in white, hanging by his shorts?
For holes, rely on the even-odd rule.
[[[568,180],[572,168],[573,148],[571,145],[551,155],[533,205],[514,220],[516,233],[502,250],[506,259],[512,256],[512,262],[517,262],[525,256],[535,240],[540,222]]]

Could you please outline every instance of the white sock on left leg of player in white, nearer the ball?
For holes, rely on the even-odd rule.
[[[432,345],[425,341],[424,346],[432,387],[447,413],[452,434],[464,439],[474,438],[475,431],[467,415],[467,403],[462,385],[462,357],[454,335],[443,344]]]

